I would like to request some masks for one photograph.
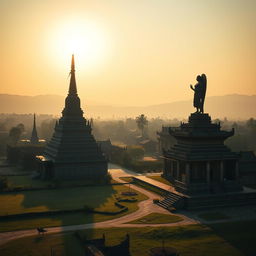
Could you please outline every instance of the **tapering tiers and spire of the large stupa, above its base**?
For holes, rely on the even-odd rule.
[[[72,55],[70,84],[65,99],[62,117],[56,122],[54,133],[49,141],[44,157],[54,163],[73,164],[106,162],[102,151],[91,134],[91,122],[83,117],[75,80],[75,60]],[[73,166],[73,167],[72,167]]]

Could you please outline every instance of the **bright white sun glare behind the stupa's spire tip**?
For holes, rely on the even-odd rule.
[[[99,66],[107,54],[107,38],[98,24],[75,20],[58,24],[51,36],[51,48],[58,61],[67,64],[71,54],[86,69]]]

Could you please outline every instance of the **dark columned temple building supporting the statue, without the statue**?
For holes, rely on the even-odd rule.
[[[191,114],[188,123],[169,128],[176,144],[164,151],[163,176],[174,181],[177,191],[192,195],[242,189],[238,180],[238,155],[224,145],[234,130],[220,128],[208,114],[199,113]]]

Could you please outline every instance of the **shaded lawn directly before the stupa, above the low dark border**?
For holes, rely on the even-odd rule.
[[[0,195],[0,216],[79,209],[85,205],[100,211],[114,210],[115,196],[126,190],[128,188],[124,185],[109,185],[2,194]],[[138,193],[139,201],[146,198]]]

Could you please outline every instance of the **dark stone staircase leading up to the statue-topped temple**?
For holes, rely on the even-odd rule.
[[[184,197],[172,192],[168,192],[166,197],[157,204],[168,211],[182,209],[184,207]]]

